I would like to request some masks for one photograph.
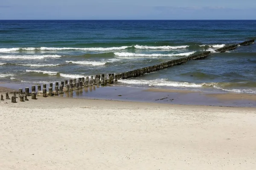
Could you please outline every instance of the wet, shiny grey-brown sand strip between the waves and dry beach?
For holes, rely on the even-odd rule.
[[[0,84],[0,94],[3,94],[5,99],[5,92],[8,91],[12,94],[13,89],[1,87],[3,85],[4,84]],[[168,88],[134,88],[116,85],[103,87],[92,86],[90,88],[74,90],[72,93],[70,92],[59,94],[58,96],[47,97],[47,99],[56,97],[141,103],[165,103],[170,105],[256,108],[256,94],[210,93],[204,91]],[[39,96],[39,98],[41,98],[41,96]]]

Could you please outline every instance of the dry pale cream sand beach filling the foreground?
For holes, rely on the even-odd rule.
[[[256,169],[256,108],[4,102],[0,170]]]

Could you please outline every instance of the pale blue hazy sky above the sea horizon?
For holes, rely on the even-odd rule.
[[[256,20],[256,0],[0,0],[0,20]]]

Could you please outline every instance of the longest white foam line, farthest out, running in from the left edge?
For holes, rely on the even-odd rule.
[[[121,46],[121,47],[92,47],[92,48],[70,48],[70,47],[27,47],[27,48],[0,48],[0,52],[11,52],[11,51],[19,51],[19,50],[26,50],[26,51],[35,51],[35,50],[45,50],[45,51],[61,51],[61,50],[80,50],[80,51],[111,51],[111,50],[123,50],[129,48],[131,46]]]

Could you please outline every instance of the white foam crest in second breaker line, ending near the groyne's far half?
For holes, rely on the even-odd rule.
[[[116,52],[114,54],[119,57],[172,57],[172,56],[189,56],[194,53],[195,51],[180,53],[180,54],[138,54],[138,53],[127,53],[127,52]]]

